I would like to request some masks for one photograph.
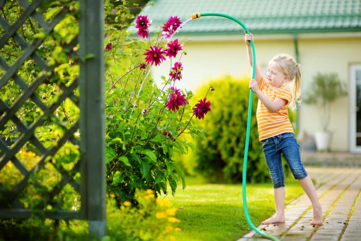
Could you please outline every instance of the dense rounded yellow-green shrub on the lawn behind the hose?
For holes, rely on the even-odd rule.
[[[207,114],[206,121],[199,122],[206,130],[206,138],[196,139],[196,170],[212,182],[240,182],[250,96],[249,79],[235,80],[226,76],[210,83],[214,88],[209,94],[212,111]],[[200,88],[199,93],[203,93],[206,88],[208,86]],[[253,95],[247,165],[247,180],[251,182],[269,179],[258,139],[255,118],[257,100],[257,96]]]

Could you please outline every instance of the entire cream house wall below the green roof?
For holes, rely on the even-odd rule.
[[[302,70],[302,92],[310,87],[313,76],[320,72],[337,72],[341,80],[349,80],[350,64],[361,64],[361,36],[353,34],[328,36],[321,38],[320,34],[298,36],[298,56]],[[268,61],[277,53],[295,56],[293,36],[255,36],[254,46],[256,60],[262,69],[267,68]],[[179,38],[187,52],[182,55],[184,67],[182,80],[176,82],[176,87],[192,90],[209,80],[223,75],[235,78],[251,78],[251,67],[248,64],[247,52],[243,34],[239,38],[224,40],[191,40]],[[176,60],[173,60],[173,63]],[[152,76],[157,82],[160,76],[168,76],[171,63],[168,61],[152,70]],[[332,105],[330,130],[332,151],[348,151],[349,149],[349,108],[348,97],[337,100]],[[299,108],[298,130],[313,135],[321,129],[318,111],[314,106],[302,104]]]

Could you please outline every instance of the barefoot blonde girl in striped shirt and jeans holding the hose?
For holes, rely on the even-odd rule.
[[[245,32],[248,59],[252,66],[252,50],[250,41],[252,34]],[[256,64],[254,80],[250,88],[257,95],[257,125],[259,139],[271,175],[276,214],[262,224],[284,223],[285,183],[281,154],[287,161],[293,176],[299,181],[303,190],[310,198],[314,217],[311,225],[322,224],[322,208],[318,201],[314,184],[307,174],[300,158],[299,146],[288,117],[288,106],[298,102],[300,96],[300,66],[291,56],[280,54],[268,63],[266,79],[263,78]],[[286,85],[294,80],[293,90]]]

